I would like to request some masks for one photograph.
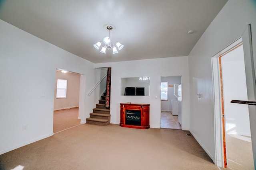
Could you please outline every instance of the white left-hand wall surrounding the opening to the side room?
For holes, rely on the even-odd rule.
[[[2,154],[53,135],[56,68],[84,74],[85,87],[92,87],[94,64],[2,20],[0,37]],[[93,95],[85,91],[81,121],[93,108]]]

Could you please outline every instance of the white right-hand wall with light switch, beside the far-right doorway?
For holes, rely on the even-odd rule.
[[[211,57],[238,39],[252,24],[256,44],[256,6],[251,0],[229,0],[188,56],[190,84],[190,131],[214,162],[214,105]],[[256,48],[253,48],[256,54]],[[202,94],[197,98],[196,94]]]

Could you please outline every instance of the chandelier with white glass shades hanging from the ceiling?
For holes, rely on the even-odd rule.
[[[124,45],[122,45],[121,43],[119,43],[117,41],[113,41],[110,39],[110,30],[113,29],[114,25],[107,24],[105,26],[106,26],[106,29],[108,29],[108,37],[103,38],[102,41],[99,41],[98,43],[94,44],[93,46],[97,50],[100,49],[100,47],[102,46],[102,49],[100,50],[101,53],[106,54],[106,49],[108,49],[108,50],[112,49],[113,54],[116,54],[116,53],[118,53],[116,47],[118,48],[118,50],[120,50],[124,47]]]

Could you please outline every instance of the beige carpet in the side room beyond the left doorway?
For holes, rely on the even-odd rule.
[[[71,109],[56,110],[53,114],[53,133],[80,125],[78,119],[78,107]]]

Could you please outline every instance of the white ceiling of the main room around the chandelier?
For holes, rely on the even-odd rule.
[[[92,63],[187,56],[227,0],[2,0],[0,19]],[[2,3],[2,4],[1,4]],[[110,39],[124,48],[100,53]],[[188,34],[193,30],[193,34]]]

